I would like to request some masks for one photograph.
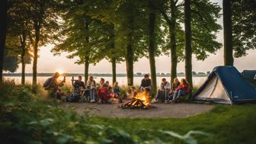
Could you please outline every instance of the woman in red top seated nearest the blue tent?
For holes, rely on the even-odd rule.
[[[190,86],[186,79],[181,79],[181,85],[178,86],[178,88],[175,89],[173,98],[170,102],[175,102],[177,98],[181,96],[185,96],[189,93]]]

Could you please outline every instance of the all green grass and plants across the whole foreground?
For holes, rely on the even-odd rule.
[[[256,142],[256,104],[216,105],[187,118],[133,119],[81,116],[38,98],[29,86],[6,84],[0,95],[1,143]],[[210,135],[177,135],[197,131]]]

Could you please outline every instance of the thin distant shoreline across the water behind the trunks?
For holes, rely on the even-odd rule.
[[[37,73],[37,76],[41,76],[41,77],[49,77],[52,76],[53,73]],[[70,76],[78,76],[78,75],[82,75],[84,76],[84,74],[82,73],[64,73],[61,75],[66,75],[68,77]],[[112,77],[112,74],[97,74],[97,73],[91,73],[89,75],[95,76],[95,77]],[[21,76],[21,73],[3,73],[3,76],[8,76],[8,77],[18,77]],[[32,73],[26,73],[25,76],[31,77]],[[133,75],[134,77],[143,77],[143,74],[141,75]],[[157,77],[171,77],[170,74],[157,74]],[[184,77],[184,74],[177,74],[178,77]],[[197,75],[193,75],[193,77],[207,77],[208,75],[206,74],[197,74]],[[126,74],[117,74],[117,77],[126,77]]]

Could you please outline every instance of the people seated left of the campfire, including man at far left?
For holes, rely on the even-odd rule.
[[[49,95],[52,98],[61,99],[61,87],[64,85],[65,80],[59,82],[58,78],[59,73],[56,72],[53,77],[46,80],[43,87],[49,91]],[[101,78],[100,85],[97,88],[93,76],[89,76],[88,81],[85,84],[85,82],[82,82],[82,76],[79,75],[78,79],[75,80],[75,82],[72,82],[72,86],[74,94],[79,94],[81,96],[88,95],[91,103],[111,103],[113,99],[117,99],[119,103],[122,103],[118,82],[115,82],[113,87],[111,87],[108,81],[105,82],[104,78]],[[96,96],[96,91],[98,97]]]

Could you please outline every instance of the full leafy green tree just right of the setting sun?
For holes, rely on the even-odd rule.
[[[85,65],[85,82],[88,80],[89,64],[103,59],[99,51],[111,42],[110,34],[106,32],[109,25],[91,18],[86,14],[87,10],[88,5],[84,2],[66,3],[62,13],[62,30],[52,50],[55,55],[68,52],[71,53],[67,56],[69,59],[78,58],[75,63]]]

